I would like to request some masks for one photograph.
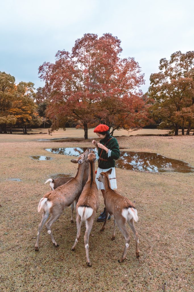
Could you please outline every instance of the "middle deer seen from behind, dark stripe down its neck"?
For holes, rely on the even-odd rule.
[[[92,264],[89,258],[89,235],[92,230],[94,218],[99,208],[99,195],[95,181],[95,161],[96,156],[94,151],[91,151],[86,159],[86,163],[89,164],[88,181],[83,188],[83,191],[79,197],[76,205],[76,224],[77,224],[77,236],[71,250],[74,251],[75,247],[81,236],[81,224],[86,222],[86,232],[84,235],[84,242],[86,248],[86,264],[91,267]]]

